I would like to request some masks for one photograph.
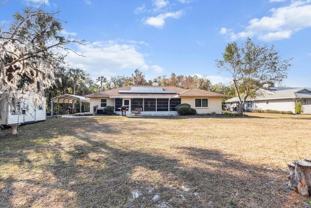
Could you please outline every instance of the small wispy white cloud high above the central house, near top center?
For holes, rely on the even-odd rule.
[[[163,28],[165,25],[165,19],[173,18],[173,19],[179,19],[183,15],[183,10],[179,10],[177,12],[168,12],[164,14],[159,14],[156,17],[148,17],[145,19],[142,19],[142,21],[145,24],[157,27],[157,28]]]

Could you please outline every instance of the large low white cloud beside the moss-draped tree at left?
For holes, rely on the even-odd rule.
[[[135,69],[148,70],[144,55],[137,51],[137,45],[120,44],[120,40],[92,42],[78,45],[77,53],[85,57],[69,53],[67,60],[72,67],[85,70],[92,77],[116,76],[128,74]]]

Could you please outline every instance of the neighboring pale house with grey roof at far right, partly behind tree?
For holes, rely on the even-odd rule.
[[[302,102],[302,113],[311,114],[311,89],[294,87],[267,87],[260,89],[260,94],[256,98],[247,98],[245,109],[248,110],[276,110],[295,112],[297,102]],[[239,105],[238,97],[233,97],[225,101],[226,108],[236,111]]]

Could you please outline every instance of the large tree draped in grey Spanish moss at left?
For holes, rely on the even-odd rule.
[[[5,102],[14,109],[25,94],[41,103],[44,91],[55,83],[55,71],[65,65],[69,43],[83,43],[60,35],[58,14],[26,7],[13,15],[10,25],[0,25],[0,118]]]

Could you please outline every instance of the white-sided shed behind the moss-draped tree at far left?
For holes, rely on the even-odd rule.
[[[43,104],[34,104],[35,96],[24,95],[22,101],[18,102],[17,110],[4,103],[5,113],[2,115],[0,125],[15,126],[19,124],[35,123],[46,120],[46,98],[43,97]]]

